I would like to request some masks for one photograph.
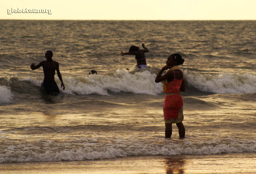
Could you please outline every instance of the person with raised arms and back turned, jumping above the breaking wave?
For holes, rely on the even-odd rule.
[[[129,52],[121,51],[120,54],[121,54],[121,56],[135,55],[135,59],[137,60],[138,68],[145,68],[145,67],[147,67],[145,52],[148,52],[148,49],[145,47],[144,43],[142,44],[142,47],[144,49],[140,49],[139,47],[136,47],[133,45],[130,47]]]

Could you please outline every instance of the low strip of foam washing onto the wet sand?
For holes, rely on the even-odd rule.
[[[87,140],[87,139],[86,139]],[[183,141],[183,140],[181,140]],[[66,144],[68,145],[68,144]],[[56,147],[47,148],[24,147],[18,149],[9,146],[0,154],[0,163],[7,162],[39,162],[39,161],[80,161],[94,159],[110,159],[125,156],[156,156],[156,155],[211,155],[222,153],[256,153],[255,140],[244,143],[233,142],[229,144],[212,145],[211,143],[174,143],[167,142],[143,143],[126,142],[124,144],[99,144],[84,141],[83,145],[67,147],[56,152]]]

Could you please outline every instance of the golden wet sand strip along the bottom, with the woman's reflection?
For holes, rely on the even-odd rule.
[[[256,173],[255,153],[129,156],[104,160],[2,163],[1,174],[227,174]]]

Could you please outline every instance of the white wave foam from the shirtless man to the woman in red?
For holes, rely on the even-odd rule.
[[[108,75],[89,75],[77,77],[62,77],[67,94],[99,94],[109,95],[111,92],[131,92],[136,94],[157,95],[162,92],[162,84],[155,83],[155,74],[150,71],[137,72],[130,74],[126,70],[116,70],[113,76]],[[55,77],[56,79],[56,77]],[[31,81],[37,86],[41,86],[40,80],[26,78],[23,80]],[[56,83],[60,87],[59,80]]]

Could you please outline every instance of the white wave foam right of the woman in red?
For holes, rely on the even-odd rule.
[[[256,76],[253,74],[221,73],[218,75],[199,74],[185,70],[189,86],[211,93],[255,93]]]

